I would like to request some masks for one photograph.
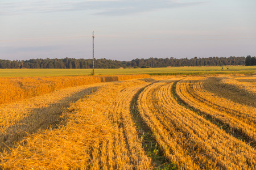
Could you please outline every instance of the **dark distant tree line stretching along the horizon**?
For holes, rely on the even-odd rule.
[[[96,69],[117,69],[123,67],[180,67],[180,66],[224,66],[224,65],[256,65],[256,57],[209,57],[209,58],[148,58],[133,59],[131,61],[117,61],[112,59],[94,59]],[[6,60],[0,59],[0,69],[92,69],[92,59],[30,59]]]

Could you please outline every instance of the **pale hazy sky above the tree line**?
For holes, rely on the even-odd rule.
[[[0,59],[256,56],[255,0],[0,0]]]

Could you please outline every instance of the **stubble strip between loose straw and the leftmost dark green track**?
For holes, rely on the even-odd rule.
[[[112,138],[114,147],[108,151],[109,154],[113,154],[113,164],[109,164],[109,168],[132,169],[134,167],[136,169],[149,169],[151,167],[151,160],[144,154],[141,139],[138,138],[137,129],[130,113],[130,103],[133,96],[147,84],[137,83],[137,86],[132,87],[130,87],[130,84],[123,84],[123,89],[115,94],[115,100],[112,101],[113,103],[109,109],[105,111],[116,131],[115,136]],[[108,144],[106,143],[106,145]],[[104,150],[104,147],[99,149]],[[106,152],[102,155],[106,158],[108,157]]]

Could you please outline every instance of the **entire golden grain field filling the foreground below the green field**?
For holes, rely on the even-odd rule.
[[[1,169],[256,168],[255,75],[3,79]]]

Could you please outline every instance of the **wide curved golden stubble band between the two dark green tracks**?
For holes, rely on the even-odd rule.
[[[154,83],[138,99],[142,117],[167,158],[185,169],[255,168],[256,151],[178,104],[173,84]]]

